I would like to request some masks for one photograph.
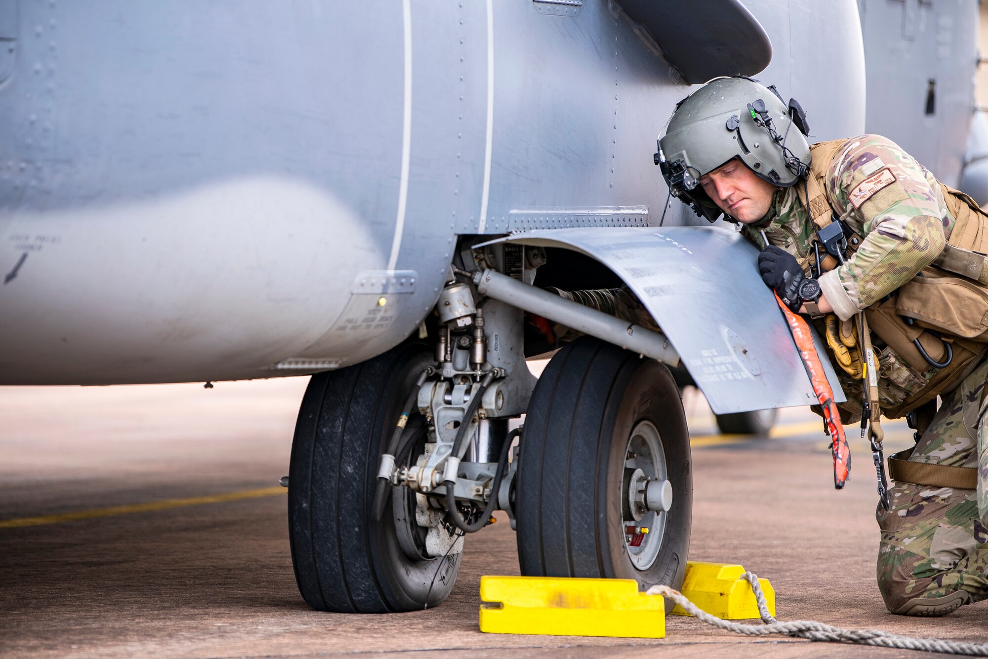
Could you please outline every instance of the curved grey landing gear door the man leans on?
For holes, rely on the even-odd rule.
[[[758,250],[736,232],[580,228],[508,240],[575,249],[614,270],[672,340],[714,413],[816,403],[782,312],[758,273]],[[810,329],[835,400],[843,402],[823,343]]]

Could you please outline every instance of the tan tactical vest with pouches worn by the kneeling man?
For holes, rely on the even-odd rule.
[[[810,146],[810,173],[806,187],[796,184],[796,194],[808,209],[817,231],[841,212],[826,195],[827,169],[847,140],[822,141]],[[917,342],[940,368],[919,391],[897,406],[882,406],[889,419],[906,413],[950,391],[981,362],[988,352],[988,214],[969,196],[941,185],[947,211],[954,218],[947,246],[934,263],[885,299],[864,310],[868,328],[918,373],[932,366]],[[808,197],[808,199],[807,199]],[[857,235],[856,235],[857,236]],[[854,253],[862,236],[850,236]],[[818,238],[814,233],[813,240]],[[826,253],[822,245],[821,253]],[[850,255],[849,253],[849,255]],[[828,255],[829,256],[829,255]],[[824,271],[838,265],[833,256],[822,262]]]

